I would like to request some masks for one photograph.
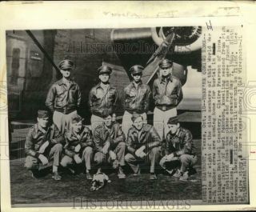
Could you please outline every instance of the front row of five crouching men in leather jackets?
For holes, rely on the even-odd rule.
[[[155,166],[158,164],[167,173],[186,180],[188,171],[197,162],[190,131],[180,126],[177,117],[170,118],[170,131],[166,142],[162,142],[154,126],[146,124],[141,114],[133,114],[131,119],[133,123],[127,139],[122,126],[113,121],[113,114],[106,114],[104,122],[95,128],[94,136],[82,125],[83,119],[75,115],[70,129],[62,135],[57,126],[49,124],[48,112],[38,110],[38,123],[31,127],[26,137],[25,166],[35,178],[39,176],[40,166],[52,166],[53,178],[60,180],[60,165],[70,170],[84,165],[87,179],[92,179],[92,166],[98,170],[112,166],[118,171],[118,178],[126,178],[126,164],[137,176],[140,164],[148,162],[152,180],[157,179]],[[162,151],[165,156],[160,160]]]

